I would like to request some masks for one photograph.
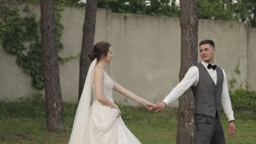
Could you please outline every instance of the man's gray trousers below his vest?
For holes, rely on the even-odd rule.
[[[225,137],[218,115],[210,117],[195,113],[195,144],[224,144]]]

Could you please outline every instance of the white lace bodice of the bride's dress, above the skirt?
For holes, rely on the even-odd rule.
[[[95,93],[94,70],[92,71],[92,89],[94,89],[94,93]],[[113,99],[112,91],[113,91],[113,88],[114,88],[114,82],[113,82],[112,78],[107,74],[107,72],[105,70],[103,70],[103,83],[102,83],[102,86],[103,86],[103,94],[104,94],[104,96],[106,98],[108,98],[109,100],[112,100]],[[94,94],[94,100],[95,100],[95,94]]]

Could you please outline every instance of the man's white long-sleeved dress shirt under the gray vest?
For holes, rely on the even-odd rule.
[[[210,76],[212,77],[212,80],[214,81],[215,85],[217,83],[217,72],[213,69],[208,69],[207,65],[208,63],[202,61],[202,65],[206,68]],[[223,110],[226,113],[226,117],[228,117],[228,120],[231,121],[234,118],[234,112],[232,110],[231,101],[229,97],[229,90],[228,90],[228,83],[226,81],[226,73],[222,69],[224,79],[223,79],[223,87],[222,87],[222,96],[221,101],[223,105]],[[181,82],[172,89],[172,91],[165,97],[164,101],[166,105],[172,103],[174,100],[181,97],[181,95],[187,91],[191,86],[195,87],[199,81],[199,69],[195,66],[190,67],[187,74],[184,76]]]

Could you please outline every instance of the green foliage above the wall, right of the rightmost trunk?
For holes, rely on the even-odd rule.
[[[237,0],[236,3],[226,0],[196,0],[199,19],[242,21],[256,27],[256,2],[253,0]]]

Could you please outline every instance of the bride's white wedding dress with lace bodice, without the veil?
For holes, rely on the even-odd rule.
[[[114,82],[111,77],[103,70],[103,94],[110,101],[113,101],[112,90]],[[94,83],[93,73],[92,82]],[[94,89],[94,85],[92,87]],[[95,99],[91,105],[89,139],[90,143],[117,143],[117,144],[136,144],[141,143],[126,127],[121,116],[118,116],[118,110],[102,105]]]

